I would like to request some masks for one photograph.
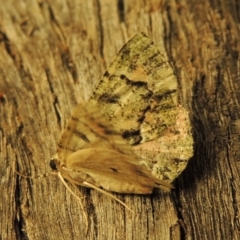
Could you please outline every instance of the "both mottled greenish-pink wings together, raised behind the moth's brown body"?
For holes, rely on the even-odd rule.
[[[119,51],[90,101],[132,146],[141,164],[172,182],[193,155],[188,111],[178,103],[173,69],[144,33]]]

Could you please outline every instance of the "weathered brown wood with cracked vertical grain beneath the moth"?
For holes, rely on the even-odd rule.
[[[195,2],[195,1],[194,1]],[[240,239],[238,1],[3,1],[0,7],[1,239]],[[145,32],[165,49],[191,116],[194,157],[171,194],[83,189],[78,201],[49,159],[73,107],[122,45]]]

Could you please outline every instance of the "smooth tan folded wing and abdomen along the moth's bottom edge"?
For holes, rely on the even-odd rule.
[[[132,156],[108,149],[84,149],[67,159],[74,179],[84,173],[92,184],[120,193],[149,194],[154,187],[170,190],[171,184],[156,179]]]

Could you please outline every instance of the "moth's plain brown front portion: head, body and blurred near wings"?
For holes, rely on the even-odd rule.
[[[155,187],[166,191],[172,187],[140,165],[130,145],[93,102],[75,108],[57,155],[50,165],[64,179],[101,192],[151,194]]]

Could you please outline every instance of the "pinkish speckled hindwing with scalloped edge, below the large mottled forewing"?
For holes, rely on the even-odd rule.
[[[187,166],[193,155],[193,138],[188,112],[176,108],[176,123],[157,139],[133,146],[143,165],[159,179],[174,180]]]

